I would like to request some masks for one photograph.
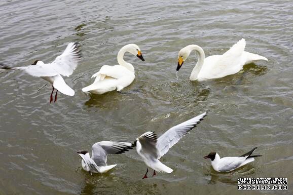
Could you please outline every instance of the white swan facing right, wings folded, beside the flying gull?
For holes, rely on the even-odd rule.
[[[136,55],[139,59],[144,61],[137,45],[126,45],[118,52],[117,60],[119,65],[103,65],[97,73],[92,75],[92,78],[96,77],[94,83],[83,88],[82,91],[92,94],[103,94],[116,89],[120,91],[129,86],[133,82],[135,75],[132,64],[125,62],[123,59],[125,52]]]

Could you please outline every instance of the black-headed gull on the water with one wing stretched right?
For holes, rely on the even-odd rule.
[[[132,143],[121,141],[100,141],[92,145],[92,157],[88,151],[78,152],[82,158],[82,168],[92,173],[105,173],[116,165],[107,166],[107,154],[119,154],[132,149]]]

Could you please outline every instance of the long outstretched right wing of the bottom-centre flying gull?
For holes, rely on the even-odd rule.
[[[158,138],[157,148],[159,150],[159,159],[163,157],[168,150],[175,145],[183,136],[190,132],[196,125],[203,120],[206,116],[206,112],[192,118],[186,122],[176,125],[166,131]]]

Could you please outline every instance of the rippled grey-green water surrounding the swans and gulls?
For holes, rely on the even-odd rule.
[[[293,181],[293,4],[291,1],[2,1],[0,56],[11,66],[51,62],[70,41],[83,58],[66,82],[74,97],[24,72],[0,72],[0,194],[243,194],[239,177],[286,177]],[[268,62],[235,74],[190,82],[194,54],[176,74],[178,51],[201,46],[222,54],[244,37],[246,51]],[[87,96],[80,90],[102,65],[117,64],[126,44],[137,44],[145,61],[127,54],[136,79],[122,92]],[[207,118],[176,144],[162,162],[172,174],[141,177],[135,150],[108,157],[109,174],[81,170],[76,151],[101,140],[133,141],[158,134],[204,110]],[[203,156],[240,155],[258,146],[255,162],[229,174],[212,171]]]

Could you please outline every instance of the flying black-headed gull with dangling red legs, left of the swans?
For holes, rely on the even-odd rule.
[[[41,77],[42,79],[52,84],[52,93],[50,95],[50,103],[53,101],[53,92],[56,89],[55,101],[57,101],[57,92],[74,96],[75,91],[72,90],[63,80],[62,76],[69,76],[73,73],[78,65],[78,61],[81,58],[80,50],[77,43],[69,43],[64,52],[57,56],[52,63],[45,64],[40,60],[35,60],[33,64],[22,67],[9,67],[1,64],[2,69],[18,69],[24,70],[26,73]]]

